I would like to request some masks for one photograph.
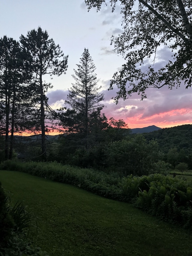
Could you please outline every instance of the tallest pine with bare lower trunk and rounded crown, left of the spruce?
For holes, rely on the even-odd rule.
[[[43,75],[61,75],[65,74],[67,69],[68,56],[56,45],[54,40],[49,39],[48,32],[43,31],[40,27],[28,31],[27,36],[21,35],[20,42],[22,49],[28,52],[32,59],[31,70],[33,74],[32,83],[34,85],[34,93],[37,96],[37,103],[39,103],[39,125],[41,130],[41,147],[42,159],[46,161],[46,124],[45,124],[45,107],[48,107],[45,93],[48,88],[52,88],[51,84],[43,83]],[[38,125],[37,125],[38,128]]]

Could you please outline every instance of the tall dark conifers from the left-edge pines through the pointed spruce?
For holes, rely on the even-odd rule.
[[[127,127],[122,119],[108,120],[101,113],[104,95],[88,49],[84,49],[74,69],[74,84],[65,101],[68,108],[58,110],[48,104],[45,94],[52,85],[43,81],[43,76],[65,74],[68,55],[64,56],[48,32],[40,27],[33,29],[26,36],[21,35],[19,42],[4,36],[0,39],[0,52],[0,134],[5,136],[5,160],[12,159],[16,132],[40,133],[40,156],[46,161],[46,133],[52,129],[61,127],[63,133],[73,134],[75,147],[88,151],[100,140],[102,130]]]

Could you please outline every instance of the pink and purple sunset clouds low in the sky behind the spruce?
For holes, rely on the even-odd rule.
[[[109,87],[110,81],[102,81],[104,88]],[[116,96],[114,90],[104,89],[103,109],[109,119],[124,119],[129,128],[141,128],[156,125],[161,128],[192,123],[192,93],[191,88],[185,89],[184,83],[179,88],[170,90],[166,86],[161,89],[148,88],[147,99],[141,101],[140,95],[134,93],[130,98],[119,100],[115,104],[111,98]],[[49,104],[66,100],[68,91],[56,90],[47,93]]]

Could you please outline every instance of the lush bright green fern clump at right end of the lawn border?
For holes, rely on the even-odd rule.
[[[161,174],[124,178],[123,193],[137,208],[161,220],[192,227],[192,182]]]

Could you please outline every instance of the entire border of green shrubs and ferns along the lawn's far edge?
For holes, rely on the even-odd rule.
[[[100,196],[124,202],[161,220],[192,228],[192,181],[162,174],[118,178],[92,169],[58,163],[5,161],[0,169],[27,172],[64,182]]]

